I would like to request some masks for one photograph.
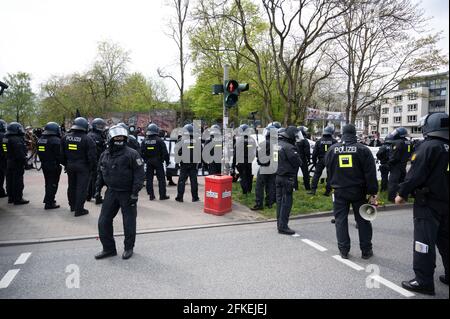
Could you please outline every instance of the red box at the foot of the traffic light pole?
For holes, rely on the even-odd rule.
[[[220,216],[231,212],[232,182],[233,178],[226,175],[205,177],[205,213]]]

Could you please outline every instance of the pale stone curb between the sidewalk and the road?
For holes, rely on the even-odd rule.
[[[387,206],[379,207],[378,212],[387,212],[387,211],[394,211],[394,210],[399,210],[399,209],[408,209],[408,208],[412,208],[412,207],[413,207],[412,204],[405,204],[402,206],[387,205]],[[292,217],[290,217],[290,220],[312,219],[312,218],[331,217],[331,216],[333,216],[332,211],[318,212],[318,213],[311,213],[311,214],[307,214],[307,215],[292,216]],[[175,228],[156,228],[156,229],[147,229],[147,230],[144,229],[144,230],[136,231],[136,235],[145,235],[145,234],[153,234],[153,233],[167,233],[167,232],[174,232],[174,231],[196,230],[196,229],[209,229],[209,228],[218,228],[218,227],[231,227],[231,226],[252,225],[252,224],[263,224],[263,223],[273,223],[273,222],[276,222],[276,219],[271,218],[271,219],[266,219],[266,220],[250,220],[250,221],[229,222],[229,223],[219,223],[219,224],[181,226],[181,227],[175,227]],[[114,236],[123,236],[123,235],[124,235],[124,233],[120,232],[120,233],[115,234]],[[59,243],[59,242],[87,240],[87,239],[98,239],[98,234],[71,236],[71,237],[0,241],[0,247]]]

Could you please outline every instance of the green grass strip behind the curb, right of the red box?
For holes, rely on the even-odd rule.
[[[249,208],[253,207],[255,205],[255,184],[255,181],[253,181],[253,189],[251,194],[243,195],[239,182],[233,183],[233,200]],[[315,196],[307,194],[307,191],[303,187],[302,178],[299,179],[299,187],[300,189],[294,192],[294,202],[292,204],[291,216],[333,210],[332,197],[323,196],[323,193],[325,193],[325,183],[319,183]],[[390,204],[387,199],[387,192],[380,192],[378,194],[378,201],[380,206]],[[259,211],[259,213],[267,218],[275,218],[276,204],[274,204],[270,209],[264,208],[264,210]]]

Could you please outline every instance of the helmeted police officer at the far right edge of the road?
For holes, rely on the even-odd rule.
[[[409,195],[415,197],[414,257],[415,278],[402,282],[405,289],[434,295],[436,248],[442,256],[445,275],[439,280],[448,285],[448,114],[434,113],[421,121],[423,143],[411,158],[411,169],[400,184],[396,204]]]

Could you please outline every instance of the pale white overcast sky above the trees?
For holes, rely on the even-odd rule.
[[[101,40],[112,40],[131,51],[130,71],[157,78],[158,67],[170,70],[177,60],[176,46],[164,33],[171,13],[165,3],[0,0],[0,79],[6,73],[28,72],[37,89],[51,75],[86,71]],[[423,0],[422,7],[433,17],[430,27],[444,31],[440,47],[448,54],[448,0]],[[189,74],[187,84],[194,80]],[[170,81],[166,85],[170,97],[176,99],[176,87]]]

